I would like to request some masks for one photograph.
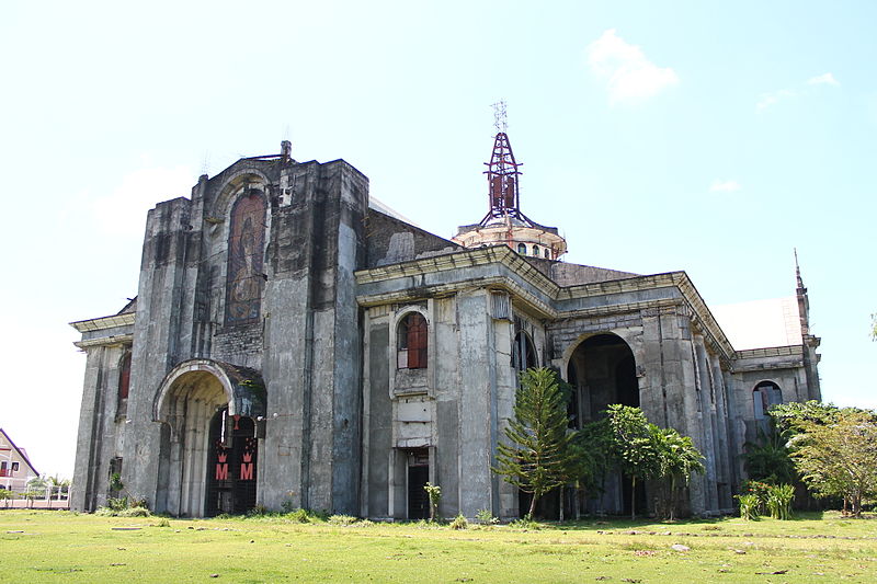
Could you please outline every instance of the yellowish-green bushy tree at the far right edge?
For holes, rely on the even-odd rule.
[[[777,409],[795,432],[789,443],[795,468],[816,496],[841,496],[861,516],[863,499],[877,496],[877,414],[818,402],[802,405]]]

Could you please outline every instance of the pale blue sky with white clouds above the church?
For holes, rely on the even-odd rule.
[[[873,2],[12,2],[0,21],[0,426],[72,474],[72,320],[136,294],[146,210],[293,141],[451,237],[486,207],[490,104],[567,261],[794,293],[825,400],[877,406]]]

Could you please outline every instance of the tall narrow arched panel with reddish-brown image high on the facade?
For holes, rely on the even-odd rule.
[[[259,322],[265,244],[265,198],[250,190],[235,202],[228,231],[226,325]]]

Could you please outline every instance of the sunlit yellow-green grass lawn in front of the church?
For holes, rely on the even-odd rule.
[[[453,530],[0,511],[0,582],[296,581],[873,583],[877,520],[827,513],[790,522],[590,520]]]

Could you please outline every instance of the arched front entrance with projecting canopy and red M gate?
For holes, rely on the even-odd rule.
[[[255,420],[264,412],[258,371],[210,359],[174,367],[153,402],[153,417],[162,423],[156,509],[201,517],[251,508]]]

